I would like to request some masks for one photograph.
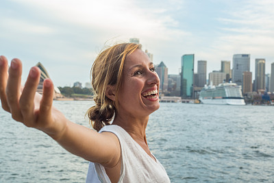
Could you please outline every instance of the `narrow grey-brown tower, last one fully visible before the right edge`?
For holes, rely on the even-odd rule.
[[[255,86],[254,91],[265,90],[265,59],[256,58],[255,60]]]

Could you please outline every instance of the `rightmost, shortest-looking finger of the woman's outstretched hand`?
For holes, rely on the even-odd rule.
[[[42,100],[40,102],[40,114],[43,117],[51,117],[53,93],[53,83],[49,79],[45,80],[43,84]]]

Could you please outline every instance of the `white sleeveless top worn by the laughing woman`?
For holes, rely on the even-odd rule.
[[[101,132],[112,132],[121,145],[121,173],[118,182],[171,182],[162,164],[153,160],[136,141],[118,125],[104,126]],[[105,168],[90,162],[86,183],[111,183]]]

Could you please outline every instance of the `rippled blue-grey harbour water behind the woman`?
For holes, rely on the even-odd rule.
[[[55,101],[68,119],[92,101]],[[147,140],[171,182],[273,182],[274,106],[161,103]],[[88,162],[0,110],[0,182],[85,182]]]

